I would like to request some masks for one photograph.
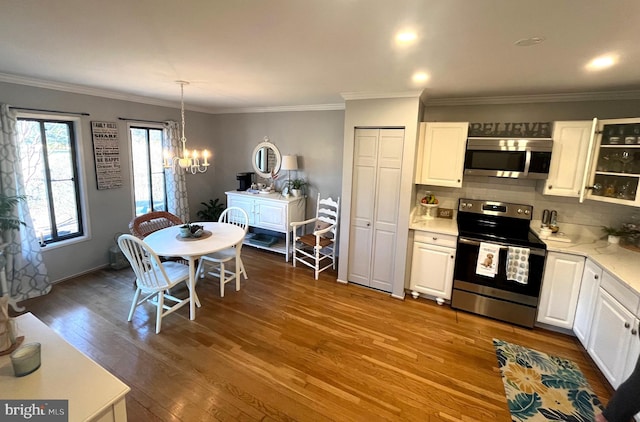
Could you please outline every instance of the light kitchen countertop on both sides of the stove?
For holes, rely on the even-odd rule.
[[[421,217],[414,218],[411,214],[409,229],[431,231],[441,234],[458,235],[456,220],[435,218],[424,220]],[[539,221],[532,221],[531,228],[537,233]],[[640,294],[640,252],[625,249],[619,245],[612,245],[606,240],[600,239],[601,233],[592,227],[563,225],[568,229],[567,237],[571,242],[559,242],[552,239],[543,239],[547,245],[547,251],[561,252],[590,258],[611,275],[618,278],[624,284]]]

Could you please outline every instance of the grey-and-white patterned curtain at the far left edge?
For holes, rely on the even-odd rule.
[[[16,124],[16,112],[7,104],[0,104],[0,192],[7,196],[25,195]],[[26,201],[19,202],[12,217],[26,226],[0,233],[0,244],[7,244],[4,247],[7,291],[2,294],[8,292],[9,304],[18,310],[17,302],[49,293],[51,282]]]

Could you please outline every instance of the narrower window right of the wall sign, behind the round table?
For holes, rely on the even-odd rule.
[[[130,126],[133,157],[133,199],[136,216],[167,210],[162,128]]]

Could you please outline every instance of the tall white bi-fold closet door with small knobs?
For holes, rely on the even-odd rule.
[[[348,280],[391,292],[404,129],[356,129]]]

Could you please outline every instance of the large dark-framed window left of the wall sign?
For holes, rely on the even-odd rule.
[[[18,155],[34,230],[55,243],[84,235],[75,121],[18,117]]]

